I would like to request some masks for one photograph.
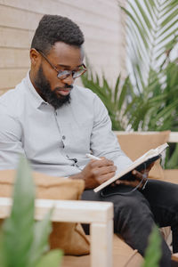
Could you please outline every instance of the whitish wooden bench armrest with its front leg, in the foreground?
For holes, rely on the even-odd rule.
[[[52,222],[90,223],[91,266],[112,266],[113,204],[83,200],[36,199],[36,220],[54,206]],[[0,198],[0,218],[10,214],[11,198]]]

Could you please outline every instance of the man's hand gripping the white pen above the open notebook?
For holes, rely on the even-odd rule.
[[[92,159],[80,174],[72,175],[72,179],[83,179],[85,181],[85,189],[93,189],[102,182],[106,182],[116,173],[117,167],[113,161],[107,158],[101,160]]]

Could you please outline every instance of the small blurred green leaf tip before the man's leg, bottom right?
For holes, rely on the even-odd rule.
[[[158,227],[155,226],[150,234],[149,246],[146,249],[142,267],[158,267],[161,258],[161,238]]]

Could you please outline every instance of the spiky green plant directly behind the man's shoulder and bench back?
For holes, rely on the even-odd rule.
[[[117,77],[113,89],[104,76],[100,81],[97,74],[94,77],[90,72],[89,66],[88,69],[89,73],[82,77],[83,85],[101,98],[109,111],[113,130],[178,130],[178,117],[175,109],[178,106],[178,96],[175,95],[178,92],[178,90],[176,92],[178,84],[174,86],[174,90],[171,90],[167,85],[167,91],[170,90],[171,93],[162,93],[160,91],[161,85],[157,81],[158,85],[155,85],[157,92],[148,99],[144,99],[142,93],[135,92],[130,77],[126,77],[124,81],[120,76]],[[167,73],[168,77],[169,73]],[[171,100],[173,96],[174,101]]]

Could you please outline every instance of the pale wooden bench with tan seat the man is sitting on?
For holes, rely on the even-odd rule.
[[[125,132],[115,133],[125,134]],[[178,142],[178,133],[170,133],[167,142]],[[164,170],[164,173],[166,182],[178,183],[178,170]],[[11,198],[0,198],[0,218],[8,216],[11,206]],[[116,235],[113,239],[111,203],[38,199],[36,200],[36,219],[41,220],[51,206],[55,206],[52,221],[90,223],[91,227],[91,255],[64,256],[62,267],[117,267],[118,265],[119,267],[140,267],[142,265],[142,256],[136,250],[126,245]]]

